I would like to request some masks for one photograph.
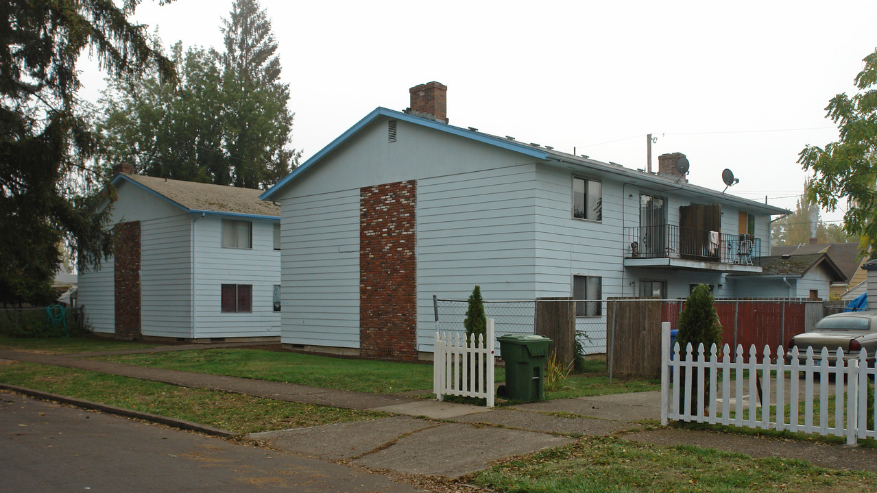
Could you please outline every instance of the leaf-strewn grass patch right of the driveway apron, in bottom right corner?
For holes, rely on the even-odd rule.
[[[691,446],[659,447],[612,437],[585,438],[476,473],[500,491],[572,493],[873,491],[877,475],[818,468],[806,461],[752,458]]]

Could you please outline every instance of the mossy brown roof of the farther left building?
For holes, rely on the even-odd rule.
[[[116,187],[121,183],[129,183],[190,213],[280,219],[280,206],[260,200],[259,194],[262,191],[252,188],[169,180],[130,173],[119,173],[112,183]]]

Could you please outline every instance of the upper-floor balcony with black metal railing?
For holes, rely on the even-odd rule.
[[[761,239],[672,224],[624,228],[624,265],[760,272]]]

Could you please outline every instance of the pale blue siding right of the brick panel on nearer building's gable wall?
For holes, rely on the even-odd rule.
[[[432,295],[530,299],[535,166],[494,167],[417,182],[417,349],[432,350]]]

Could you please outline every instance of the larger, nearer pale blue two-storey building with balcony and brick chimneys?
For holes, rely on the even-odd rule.
[[[726,275],[761,271],[770,216],[788,212],[689,184],[679,153],[647,173],[452,126],[438,82],[410,95],[261,195],[282,208],[284,345],[425,356],[432,296],[474,285],[485,299],[675,298],[698,283],[735,296],[749,283]]]

